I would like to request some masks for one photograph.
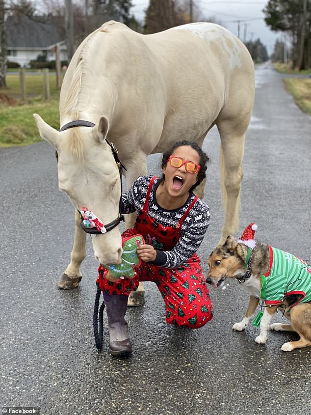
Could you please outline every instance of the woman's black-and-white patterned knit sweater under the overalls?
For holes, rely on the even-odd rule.
[[[122,213],[137,212],[144,206],[150,180],[153,176],[141,176],[134,181],[128,193],[122,194]],[[156,202],[156,189],[162,179],[154,181],[149,196],[148,214],[163,226],[173,226],[187,210],[195,195],[191,193],[183,206],[179,209],[165,210]],[[181,238],[171,250],[159,252],[155,264],[165,268],[178,268],[185,263],[200,247],[209,224],[209,208],[198,199],[188,212],[181,225]]]

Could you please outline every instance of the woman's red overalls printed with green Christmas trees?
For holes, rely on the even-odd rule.
[[[154,248],[170,250],[178,242],[181,224],[198,197],[195,197],[174,227],[162,226],[148,215],[148,200],[155,179],[156,177],[153,177],[150,182],[143,210],[137,217],[134,228],[127,229],[122,236],[140,234],[146,243]],[[104,277],[107,270],[102,265],[98,271],[99,277],[96,283],[104,293],[109,295],[130,295],[131,291],[137,290],[139,281],[155,282],[166,305],[167,323],[197,329],[212,319],[213,307],[197,254],[192,255],[185,264],[174,269],[140,261],[134,268],[136,275],[133,278],[119,278],[115,282]]]

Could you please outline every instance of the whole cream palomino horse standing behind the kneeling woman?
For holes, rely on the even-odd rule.
[[[61,130],[34,114],[41,137],[57,150],[59,188],[76,209],[87,206],[103,223],[116,225],[121,187],[109,141],[127,167],[129,188],[147,174],[147,155],[163,152],[183,138],[202,146],[207,132],[217,125],[224,241],[238,221],[254,78],[247,49],[221,26],[193,23],[142,35],[121,23],[105,23],[81,43],[70,62],[60,93]],[[126,226],[132,225],[131,217]],[[76,211],[71,261],[60,288],[78,286],[85,241]],[[92,243],[99,262],[120,260],[118,226],[92,235]]]

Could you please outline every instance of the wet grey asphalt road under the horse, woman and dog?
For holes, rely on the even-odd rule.
[[[236,236],[256,221],[259,240],[309,259],[311,117],[268,65],[257,68],[256,85]],[[223,221],[215,128],[204,149],[211,159],[205,195],[211,222],[199,250],[206,271]],[[149,158],[149,171],[159,172],[158,155]],[[214,318],[194,331],[166,325],[161,296],[146,283],[145,305],[127,312],[132,356],[109,355],[106,329],[98,352],[89,237],[79,288],[56,287],[74,228],[52,147],[0,150],[0,174],[1,406],[40,407],[41,415],[311,415],[311,347],[286,353],[280,348],[294,333],[269,332],[259,345],[257,328],[233,332],[247,304],[234,281],[211,289]]]

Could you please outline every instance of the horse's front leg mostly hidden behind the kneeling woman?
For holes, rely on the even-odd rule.
[[[127,163],[128,171],[126,172],[127,187],[130,190],[130,186],[133,181],[139,176],[147,174],[147,161],[145,154],[135,154],[135,160],[133,163]],[[126,228],[132,228],[135,223],[136,213],[126,215],[125,226]],[[136,291],[131,291],[128,306],[135,307],[137,305],[143,305],[145,303],[145,289],[143,283],[140,282]]]

